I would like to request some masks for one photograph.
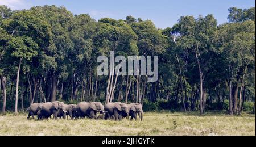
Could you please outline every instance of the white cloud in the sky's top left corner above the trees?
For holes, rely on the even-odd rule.
[[[31,6],[24,0],[0,0],[0,5],[6,5],[13,10],[29,9]]]

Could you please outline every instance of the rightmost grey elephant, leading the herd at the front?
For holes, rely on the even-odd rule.
[[[131,119],[133,120],[133,118],[135,120],[137,120],[137,114],[139,115],[139,117],[141,118],[141,121],[143,119],[143,110],[142,110],[142,104],[139,103],[130,103],[129,104],[129,111],[130,111],[130,116]]]

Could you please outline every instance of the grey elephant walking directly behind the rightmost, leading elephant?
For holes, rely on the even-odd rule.
[[[114,115],[115,120],[122,120],[123,116],[129,117],[129,106],[125,103],[115,102],[105,105],[106,116],[105,119],[110,119]]]

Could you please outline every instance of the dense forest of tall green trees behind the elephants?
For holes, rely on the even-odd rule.
[[[65,7],[0,6],[0,106],[138,102],[145,111],[255,112],[255,7],[214,16],[181,16],[166,29],[151,20],[74,15]],[[98,76],[97,57],[159,56],[159,78]]]

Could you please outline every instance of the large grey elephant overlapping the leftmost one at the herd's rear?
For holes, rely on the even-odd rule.
[[[42,119],[48,119],[53,114],[53,117],[57,119],[59,112],[63,112],[63,119],[65,119],[67,111],[63,102],[47,102],[43,104],[40,115],[42,115]]]

